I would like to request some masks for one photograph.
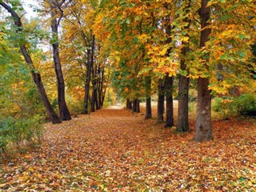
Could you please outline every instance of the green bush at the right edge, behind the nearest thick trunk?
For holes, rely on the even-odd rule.
[[[243,94],[238,98],[214,98],[213,110],[222,114],[222,118],[238,115],[256,117],[256,96]]]

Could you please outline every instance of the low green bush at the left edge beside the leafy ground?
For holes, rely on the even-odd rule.
[[[35,115],[30,118],[0,119],[0,154],[9,150],[34,145],[42,138],[42,118]]]

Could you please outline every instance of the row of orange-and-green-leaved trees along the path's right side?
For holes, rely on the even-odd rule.
[[[195,141],[213,139],[211,98],[250,89],[255,69],[255,4],[251,1],[102,1],[96,38],[113,62],[112,82],[123,98],[150,96],[158,87],[158,122],[174,126],[173,90],[178,78],[178,131],[189,130],[190,79],[197,81]],[[152,89],[152,87],[154,89]],[[136,107],[133,107],[136,111]]]

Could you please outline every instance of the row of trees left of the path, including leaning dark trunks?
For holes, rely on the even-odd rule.
[[[11,45],[6,45],[8,50],[2,49],[1,55],[10,51],[12,54],[23,55],[51,122],[59,123],[71,119],[70,110],[66,105],[66,83],[62,68],[66,73],[66,79],[69,78],[66,82],[69,83],[68,89],[73,90],[72,94],[76,94],[75,91],[84,90],[83,113],[89,114],[95,108],[100,109],[106,94],[109,71],[105,69],[106,61],[96,59],[100,46],[98,42],[95,42],[92,30],[86,26],[88,23],[85,19],[88,10],[81,9],[82,6],[90,6],[88,9],[93,10],[93,7],[79,1],[54,0],[38,3],[40,5],[38,4],[38,7],[34,7],[34,9],[39,12],[40,17],[34,18],[29,24],[29,21],[23,17],[25,10],[23,10],[21,2],[0,1],[0,6],[4,8],[1,10],[2,13],[7,15],[6,10],[11,15],[6,22],[1,22],[2,44],[14,39]],[[32,30],[29,29],[29,25],[34,25]],[[70,26],[75,26],[75,28],[70,29]],[[47,32],[48,29],[50,32]],[[75,33],[74,30],[76,30]],[[61,41],[60,38],[63,40]],[[48,48],[46,53],[38,51],[42,43],[50,44],[51,49],[48,50]],[[14,52],[13,50],[18,46],[21,51]],[[46,71],[51,65],[50,52],[54,62],[55,80],[53,74]],[[46,61],[38,59],[38,57],[44,58],[42,54],[47,54],[46,57],[49,59]],[[22,62],[20,59],[12,60],[14,55],[10,55],[10,53],[8,55],[9,58],[5,58],[2,61],[3,64],[11,65],[14,62]],[[50,80],[47,81],[47,78]],[[50,89],[54,89],[51,88],[53,86],[47,86],[53,80],[57,82],[59,116],[51,104],[54,98],[48,98],[46,94],[46,92],[50,92]],[[17,82],[13,83],[17,84]]]

